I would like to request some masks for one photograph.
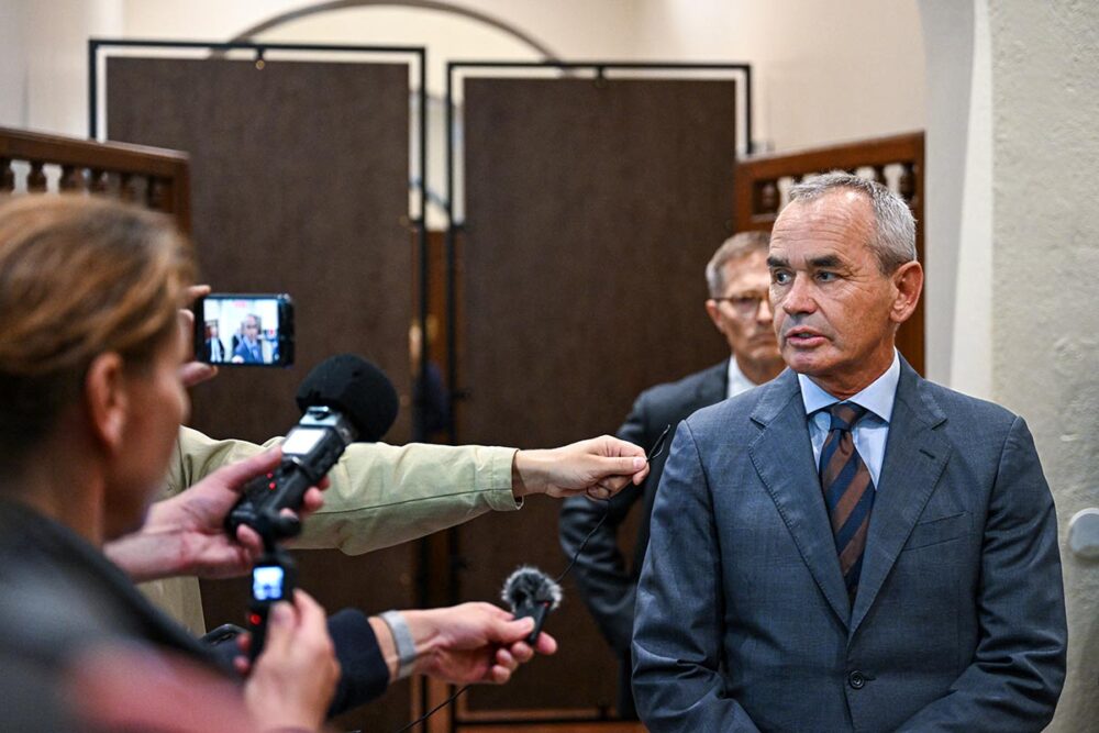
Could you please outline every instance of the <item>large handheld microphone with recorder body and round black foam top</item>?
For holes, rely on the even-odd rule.
[[[397,419],[398,398],[392,382],[366,359],[341,354],[325,359],[301,382],[297,396],[301,420],[286,435],[282,460],[252,479],[225,520],[230,536],[246,524],[268,547],[301,531],[296,517],[284,509],[301,508],[306,490],[315,486],[344,449],[355,441],[375,442]]]

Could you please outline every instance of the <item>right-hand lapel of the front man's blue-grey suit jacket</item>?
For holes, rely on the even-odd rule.
[[[946,415],[923,389],[924,384],[901,359],[880,486],[874,497],[858,595],[851,614],[852,635],[881,590],[950,458],[951,444],[934,431]]]

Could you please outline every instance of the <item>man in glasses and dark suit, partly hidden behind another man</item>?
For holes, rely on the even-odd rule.
[[[710,292],[706,310],[729,342],[732,356],[679,381],[642,392],[619,427],[619,437],[650,449],[667,426],[674,427],[696,410],[752,389],[781,370],[782,359],[767,302],[769,238],[767,232],[742,232],[726,240],[706,267]],[[567,499],[560,511],[560,544],[569,557],[591,534],[577,558],[574,577],[591,615],[619,656],[617,708],[625,719],[637,717],[630,687],[633,606],[648,545],[648,517],[667,455],[665,449],[653,458],[648,478],[641,486],[628,487],[609,502],[593,502],[585,497]],[[619,551],[619,527],[639,503],[643,508],[641,524],[633,563],[626,567]]]

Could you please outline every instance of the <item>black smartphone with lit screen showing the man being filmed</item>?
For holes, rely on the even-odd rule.
[[[286,293],[214,292],[195,303],[196,358],[218,366],[293,364],[293,301]]]

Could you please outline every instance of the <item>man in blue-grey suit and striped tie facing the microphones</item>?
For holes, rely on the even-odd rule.
[[[778,378],[680,424],[637,591],[653,731],[1040,731],[1065,676],[1056,517],[1023,420],[896,352],[923,273],[884,187],[791,189]]]

